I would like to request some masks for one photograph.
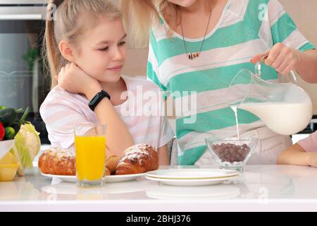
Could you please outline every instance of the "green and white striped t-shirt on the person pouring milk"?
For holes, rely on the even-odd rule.
[[[187,59],[182,36],[174,32],[170,39],[167,29],[163,19],[151,29],[147,76],[175,102],[182,102],[181,109],[175,107],[180,165],[194,165],[211,133],[235,132],[235,115],[225,93],[240,70],[254,71],[251,57],[278,42],[301,51],[315,49],[277,0],[229,0],[216,28],[206,35],[201,55],[192,61]],[[202,40],[185,38],[187,51],[199,52]],[[277,82],[278,73],[271,67],[263,66],[262,74],[264,80]],[[197,98],[196,106],[184,107],[191,96]],[[194,123],[188,123],[189,118],[195,118]],[[243,110],[238,118],[241,133],[263,126]]]

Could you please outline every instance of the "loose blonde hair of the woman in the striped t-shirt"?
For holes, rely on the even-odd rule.
[[[149,42],[149,29],[159,23],[160,16],[168,23],[168,36],[180,25],[179,6],[168,0],[120,0],[123,22],[129,31],[131,43],[144,47]],[[211,0],[206,0],[206,10],[211,9]],[[132,23],[131,23],[132,21]]]

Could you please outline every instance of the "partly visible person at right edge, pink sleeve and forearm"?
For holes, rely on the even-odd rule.
[[[277,163],[317,167],[317,131],[284,150]]]

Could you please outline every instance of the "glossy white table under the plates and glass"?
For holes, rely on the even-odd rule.
[[[35,167],[25,177],[0,182],[0,212],[15,210],[316,211],[317,169],[248,165],[240,178],[214,186],[167,186],[142,177],[80,189],[43,177]]]

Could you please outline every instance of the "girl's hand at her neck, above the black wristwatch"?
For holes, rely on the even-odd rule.
[[[63,66],[55,78],[64,90],[70,93],[82,93],[88,99],[101,90],[99,81],[87,75],[73,62]]]

